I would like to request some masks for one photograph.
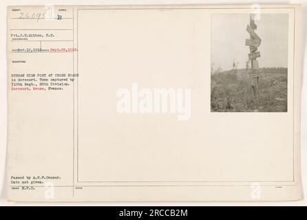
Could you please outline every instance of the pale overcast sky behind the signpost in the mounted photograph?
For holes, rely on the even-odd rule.
[[[262,39],[257,58],[260,67],[288,67],[288,14],[261,14],[255,21],[255,32]],[[240,62],[238,68],[245,68],[249,48],[246,26],[249,14],[213,14],[211,25],[211,61],[223,70],[232,69],[233,59]]]

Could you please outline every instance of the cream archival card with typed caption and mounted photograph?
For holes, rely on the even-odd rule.
[[[300,5],[14,5],[9,201],[301,199]]]

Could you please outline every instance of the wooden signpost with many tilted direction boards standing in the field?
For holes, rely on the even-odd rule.
[[[250,17],[250,23],[247,25],[246,31],[250,35],[250,39],[245,40],[245,45],[249,46],[249,50],[251,54],[248,54],[248,63],[251,63],[251,69],[247,70],[247,76],[248,78],[251,78],[252,80],[252,90],[253,95],[257,96],[258,94],[258,85],[259,85],[259,76],[260,76],[260,70],[257,58],[260,57],[260,52],[257,51],[258,47],[261,44],[260,37],[255,33],[255,30],[257,29],[257,25],[255,24],[255,21],[253,17]]]

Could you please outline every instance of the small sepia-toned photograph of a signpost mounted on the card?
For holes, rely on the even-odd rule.
[[[288,14],[213,14],[211,112],[287,112]]]

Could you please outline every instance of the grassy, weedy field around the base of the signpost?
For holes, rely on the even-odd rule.
[[[211,74],[211,111],[286,112],[287,69],[262,69],[257,96],[244,69]]]

